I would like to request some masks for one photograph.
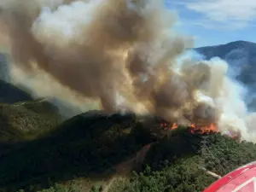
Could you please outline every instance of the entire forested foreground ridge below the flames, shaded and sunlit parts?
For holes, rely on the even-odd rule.
[[[192,134],[185,127],[172,131],[169,139],[155,138],[149,130],[156,125],[160,127],[158,121],[143,124],[133,114],[77,115],[45,137],[0,153],[0,190],[38,191],[61,183],[61,189],[44,191],[194,192],[215,180],[200,166],[224,175],[256,158],[253,143],[237,143],[217,133]],[[118,172],[131,160],[140,164],[143,155],[138,151],[145,152],[143,166],[129,167],[137,173]],[[70,181],[79,186],[71,189]]]

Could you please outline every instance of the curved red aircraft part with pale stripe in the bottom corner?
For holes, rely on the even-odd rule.
[[[203,192],[256,192],[256,161],[219,178]]]

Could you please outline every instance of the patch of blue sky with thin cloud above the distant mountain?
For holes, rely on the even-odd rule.
[[[166,6],[179,17],[176,31],[192,35],[195,47],[256,43],[256,0],[166,0]]]

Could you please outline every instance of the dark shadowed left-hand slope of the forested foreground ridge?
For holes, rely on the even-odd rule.
[[[126,129],[133,130],[127,133]],[[62,123],[47,137],[17,143],[8,154],[0,153],[0,190],[17,191],[32,184],[32,191],[38,191],[49,180],[65,182],[74,175],[91,174],[103,177],[150,141],[134,115],[83,113]]]

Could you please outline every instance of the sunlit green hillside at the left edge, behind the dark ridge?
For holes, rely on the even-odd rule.
[[[60,123],[58,109],[44,100],[0,104],[0,143],[30,140]]]

